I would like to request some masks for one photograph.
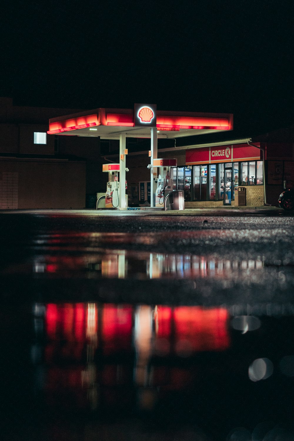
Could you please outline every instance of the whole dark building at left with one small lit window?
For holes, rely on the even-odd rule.
[[[52,115],[78,111],[18,106],[0,97],[0,209],[86,206],[86,192],[97,191],[97,139],[47,135]]]

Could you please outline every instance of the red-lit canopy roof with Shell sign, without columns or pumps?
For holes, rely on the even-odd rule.
[[[156,105],[135,105],[134,109],[97,108],[49,120],[49,135],[100,136],[119,139],[150,138],[156,127],[157,138],[180,138],[233,129],[231,113],[156,111]]]

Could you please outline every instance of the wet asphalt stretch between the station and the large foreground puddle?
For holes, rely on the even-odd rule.
[[[0,215],[2,297],[9,301],[24,284],[22,301],[37,292],[44,300],[214,306],[253,304],[258,296],[260,302],[291,302],[293,220],[278,209],[217,215],[213,210],[205,215],[5,213]],[[115,266],[110,276],[101,272],[101,262],[116,254],[123,273]],[[150,259],[157,277],[146,276]]]

